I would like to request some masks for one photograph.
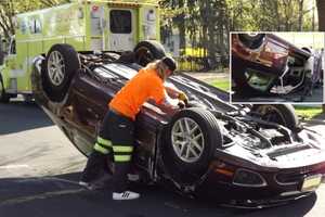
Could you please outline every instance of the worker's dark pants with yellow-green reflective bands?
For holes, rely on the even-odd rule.
[[[134,123],[130,118],[108,111],[82,178],[94,178],[101,168],[107,167],[105,165],[107,157],[114,155],[113,192],[127,190],[127,174],[133,153],[133,133]]]

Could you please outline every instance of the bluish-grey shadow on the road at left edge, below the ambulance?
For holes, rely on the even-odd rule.
[[[0,103],[0,135],[51,126],[53,123],[35,102]]]

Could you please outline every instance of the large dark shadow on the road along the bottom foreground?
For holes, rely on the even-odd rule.
[[[132,189],[141,192],[141,199],[116,202],[110,199],[110,184],[102,190],[89,191],[77,184],[79,177],[79,173],[74,173],[52,177],[0,179],[0,213],[5,217],[303,216],[316,201],[316,195],[313,194],[285,206],[247,210],[191,200],[158,186],[133,184]]]

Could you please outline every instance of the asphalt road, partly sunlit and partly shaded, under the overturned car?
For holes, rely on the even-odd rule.
[[[309,127],[325,132],[325,125]],[[114,202],[109,187],[77,184],[86,157],[32,103],[0,104],[0,217],[325,216],[325,184],[310,197],[261,210],[206,204],[161,187],[134,186],[140,200]]]

